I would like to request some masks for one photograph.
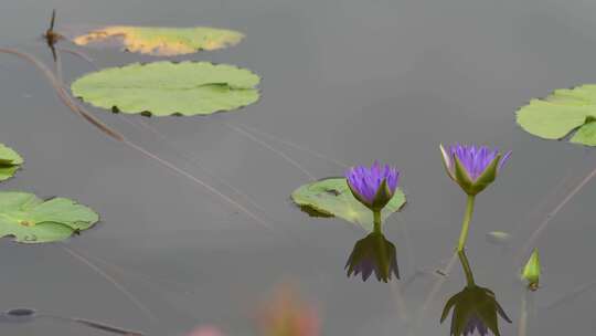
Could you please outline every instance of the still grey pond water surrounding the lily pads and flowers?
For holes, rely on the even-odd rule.
[[[65,108],[36,70],[1,55],[0,141],[26,160],[2,189],[60,195],[97,210],[102,223],[66,246],[116,279],[153,317],[63,245],[24,246],[8,240],[0,244],[0,309],[34,307],[148,335],[182,335],[207,323],[221,325],[230,335],[255,335],[255,306],[276,285],[291,281],[318,306],[323,335],[448,335],[448,323],[439,325],[438,319],[444,301],[464,285],[457,264],[421,327],[407,333],[439,277],[433,271],[444,267],[453,252],[465,206],[464,195],[443,171],[438,144],[475,141],[513,149],[498,183],[478,199],[468,256],[477,282],[497,293],[513,319],[512,325],[502,324],[502,334],[518,333],[523,288],[515,277],[514,255],[596,159],[582,147],[525,134],[515,126],[513,113],[531,97],[596,81],[596,4],[4,0],[1,44],[50,62],[49,51],[35,39],[45,30],[52,8],[58,10],[58,29],[199,24],[246,33],[237,46],[187,59],[257,72],[264,77],[259,103],[211,117],[125,116],[128,122],[147,122],[169,143],[119,116],[92,111],[135,143],[233,196],[179,153],[199,158],[203,167],[263,207],[258,214],[274,229],[107,138]],[[117,51],[86,52],[99,66],[153,60]],[[92,70],[67,54],[63,62],[68,82]],[[345,277],[344,262],[364,232],[297,210],[288,196],[309,178],[226,124],[248,125],[348,165],[381,159],[398,166],[409,203],[387,221],[386,237],[397,246],[404,279],[416,270],[430,273],[407,286],[401,283],[405,308],[397,304],[398,286]],[[343,171],[313,155],[259,138],[317,178]],[[546,308],[595,281],[590,267],[596,252],[595,197],[594,183],[588,183],[538,241],[545,273],[534,295],[536,312],[529,335],[590,335],[596,329],[592,309],[596,290]],[[544,206],[535,211],[540,203]],[[486,242],[485,234],[494,230],[515,234],[510,249]],[[105,335],[51,319],[0,324],[0,330],[19,336]]]

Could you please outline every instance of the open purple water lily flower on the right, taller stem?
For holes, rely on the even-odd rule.
[[[494,181],[511,156],[511,150],[502,154],[487,146],[460,144],[447,149],[440,145],[440,151],[447,174],[469,195],[477,195]]]

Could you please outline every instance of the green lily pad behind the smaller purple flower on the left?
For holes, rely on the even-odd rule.
[[[328,178],[305,185],[291,193],[291,199],[310,216],[338,217],[368,231],[373,228],[371,210],[352,196],[344,178]],[[395,190],[395,195],[381,212],[382,219],[385,220],[393,212],[400,211],[405,202],[402,190]]]

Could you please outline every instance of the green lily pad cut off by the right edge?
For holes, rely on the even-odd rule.
[[[544,139],[562,139],[596,146],[596,85],[554,91],[542,99],[532,99],[518,111],[518,124]]]

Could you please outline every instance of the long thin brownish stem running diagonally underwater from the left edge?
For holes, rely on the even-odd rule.
[[[215,188],[213,188],[212,186],[207,185],[206,182],[202,181],[201,179],[194,177],[193,175],[191,175],[190,172],[183,170],[183,169],[180,169],[178,168],[177,166],[174,166],[173,164],[171,164],[170,161],[167,161],[158,156],[156,156],[155,154],[151,154],[149,151],[147,151],[145,148],[136,145],[135,143],[131,143],[130,140],[128,140],[124,135],[110,129],[108,126],[106,126],[103,122],[100,122],[99,119],[97,119],[96,117],[94,117],[91,113],[86,112],[82,106],[78,106],[68,95],[68,93],[64,90],[64,86],[62,85],[61,82],[57,81],[57,78],[52,74],[52,72],[43,64],[41,63],[40,61],[38,61],[35,57],[33,57],[32,55],[30,54],[26,54],[26,53],[23,53],[23,52],[20,52],[18,50],[12,50],[12,49],[6,49],[6,48],[0,48],[0,53],[7,53],[7,54],[12,54],[12,55],[17,55],[23,60],[26,60],[29,61],[30,63],[32,63],[33,65],[35,65],[35,67],[38,67],[40,71],[43,72],[43,74],[47,77],[47,80],[51,82],[52,86],[54,86],[54,88],[56,90],[56,93],[58,95],[58,97],[62,99],[62,102],[67,106],[70,107],[74,113],[78,114],[79,116],[82,116],[83,118],[85,118],[87,122],[89,122],[91,124],[93,124],[95,127],[99,128],[103,133],[105,133],[106,135],[108,135],[110,138],[115,139],[115,140],[118,140],[127,146],[129,146],[130,148],[132,149],[136,149],[138,150],[139,153],[141,153],[142,155],[151,158],[151,159],[155,159],[156,161],[158,161],[159,164],[161,164],[162,166],[166,166],[167,168],[170,168],[172,170],[174,170],[175,172],[189,178],[190,180],[194,181],[195,183],[204,187],[205,189],[207,189],[209,191],[211,191],[212,193],[216,195],[217,197],[222,198],[224,201],[226,201],[227,203],[230,203],[231,206],[240,209],[242,212],[244,212],[245,214],[247,214],[249,218],[252,218],[253,220],[257,221],[259,224],[262,224],[263,227],[267,228],[267,229],[273,229],[273,227],[266,222],[265,220],[260,219],[258,216],[256,216],[255,213],[253,213],[251,210],[246,209],[244,206],[242,206],[241,203],[234,201],[233,199],[231,199],[230,197],[223,195],[222,192],[220,192],[219,190],[216,190]]]

